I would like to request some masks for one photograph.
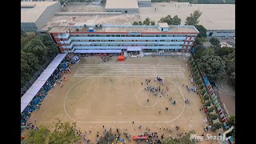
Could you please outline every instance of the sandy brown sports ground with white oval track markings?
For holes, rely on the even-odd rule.
[[[106,129],[120,128],[121,132],[127,128],[132,136],[144,133],[146,127],[152,132],[165,134],[165,138],[169,134],[178,137],[175,126],[180,127],[180,133],[189,130],[195,130],[198,135],[204,133],[206,115],[199,110],[202,107],[199,96],[186,90],[186,85],[191,87],[193,84],[189,81],[190,73],[183,58],[115,60],[116,57],[112,57],[110,62],[102,63],[100,57],[81,58],[72,67],[71,73],[66,74],[64,86],[56,85],[50,90],[41,108],[31,114],[28,122],[35,126],[53,126],[55,118],[63,122],[77,122],[78,129],[82,132],[86,130],[86,138],[94,142],[97,131],[102,134],[103,125]],[[154,81],[157,76],[164,79],[163,86]],[[160,86],[161,90],[166,91],[165,95],[154,95],[150,90],[145,90],[146,78],[151,79],[149,86]],[[186,99],[190,99],[190,104],[184,102]],[[175,105],[173,101],[176,101]],[[142,128],[138,129],[140,125]],[[163,128],[174,131],[169,133]],[[26,130],[22,133],[26,133]],[[121,138],[124,138],[123,134]],[[200,143],[211,142],[215,141]]]

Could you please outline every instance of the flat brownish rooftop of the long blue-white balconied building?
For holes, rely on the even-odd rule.
[[[49,33],[65,33],[70,28],[70,32],[85,31],[89,32],[92,26],[54,26]],[[107,26],[103,25],[102,28],[94,27],[94,32],[161,32],[158,26]],[[194,26],[170,26],[167,32],[178,33],[198,33]],[[164,33],[164,32],[161,32]],[[92,33],[93,34],[93,33]]]

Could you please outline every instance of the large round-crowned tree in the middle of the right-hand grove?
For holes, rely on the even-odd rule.
[[[206,74],[210,82],[215,82],[223,77],[225,62],[214,53],[212,48],[203,51],[202,57],[197,61],[200,70]]]

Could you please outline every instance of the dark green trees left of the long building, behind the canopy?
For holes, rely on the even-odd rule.
[[[21,31],[21,87],[40,70],[47,59],[58,54],[49,34],[26,34]]]

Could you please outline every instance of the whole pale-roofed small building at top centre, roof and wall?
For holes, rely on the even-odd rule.
[[[106,0],[107,12],[138,13],[137,0]]]

